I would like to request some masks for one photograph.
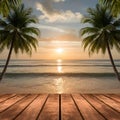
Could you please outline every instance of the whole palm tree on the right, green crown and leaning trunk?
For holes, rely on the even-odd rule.
[[[114,64],[111,49],[114,47],[120,51],[120,20],[115,20],[111,12],[99,4],[95,9],[88,9],[88,16],[83,18],[83,23],[89,23],[90,26],[81,29],[83,35],[84,49],[88,48],[89,54],[99,53],[105,54],[108,52],[114,72],[120,80],[120,75]]]

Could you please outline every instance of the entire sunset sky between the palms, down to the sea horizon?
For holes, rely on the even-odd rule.
[[[108,55],[92,55],[83,50],[79,30],[86,26],[81,18],[89,7],[95,7],[97,0],[23,0],[26,7],[33,8],[39,19],[35,26],[41,31],[37,52],[32,56],[12,54],[12,59],[107,59]],[[8,51],[0,54],[5,59]],[[119,55],[113,50],[113,56]]]

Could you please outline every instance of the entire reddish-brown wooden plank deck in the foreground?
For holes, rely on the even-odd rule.
[[[120,120],[120,94],[0,95],[0,120]]]

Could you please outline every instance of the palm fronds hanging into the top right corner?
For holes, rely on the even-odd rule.
[[[112,14],[114,16],[118,16],[120,14],[120,0],[99,0],[103,5],[107,5],[110,8]]]

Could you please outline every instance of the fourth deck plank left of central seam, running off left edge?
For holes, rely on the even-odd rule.
[[[21,100],[24,97],[25,95],[16,95],[6,100],[5,102],[0,103],[0,112],[8,109],[11,105],[15,104],[17,101]]]

